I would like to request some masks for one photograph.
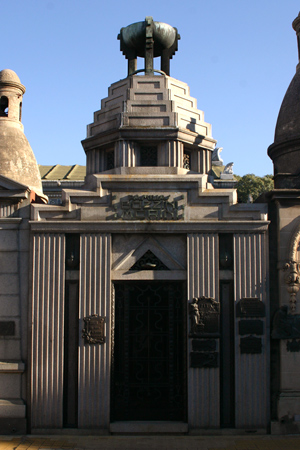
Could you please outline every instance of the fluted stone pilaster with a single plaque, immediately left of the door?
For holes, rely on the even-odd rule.
[[[110,254],[109,234],[81,235],[79,294],[78,428],[106,428],[110,414]],[[87,344],[83,318],[104,316],[105,344]]]

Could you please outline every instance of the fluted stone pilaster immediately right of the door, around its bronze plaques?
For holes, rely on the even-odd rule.
[[[188,300],[206,296],[219,301],[218,235],[190,234],[187,237],[187,248]],[[188,329],[189,327],[190,324]],[[189,342],[190,351],[191,342]],[[189,367],[188,420],[190,428],[219,427],[219,385],[219,368]]]

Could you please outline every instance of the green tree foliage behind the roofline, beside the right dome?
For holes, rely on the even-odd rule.
[[[260,194],[274,189],[274,181],[272,175],[258,177],[253,173],[249,173],[240,177],[235,175],[237,180],[238,201],[240,203],[254,202]]]

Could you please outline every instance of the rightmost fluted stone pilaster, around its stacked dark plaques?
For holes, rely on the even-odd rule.
[[[234,235],[235,302],[244,297],[257,297],[265,303],[262,353],[241,353],[238,322],[235,329],[235,421],[237,428],[265,428],[269,422],[269,300],[267,285],[267,236],[265,234]],[[250,318],[249,318],[250,319]],[[244,336],[242,336],[244,337]]]

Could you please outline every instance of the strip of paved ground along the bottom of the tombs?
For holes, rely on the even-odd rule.
[[[300,450],[300,436],[2,436],[0,450]]]

